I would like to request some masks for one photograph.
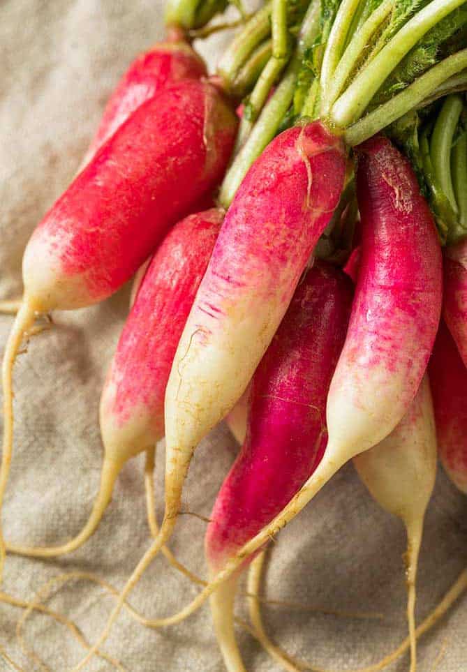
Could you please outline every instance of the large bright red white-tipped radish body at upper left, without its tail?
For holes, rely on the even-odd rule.
[[[116,291],[221,178],[236,128],[208,82],[172,84],[141,105],[31,237],[23,262],[31,308],[79,308]]]

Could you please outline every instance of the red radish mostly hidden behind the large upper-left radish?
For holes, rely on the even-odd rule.
[[[140,54],[126,73],[107,105],[96,135],[84,156],[82,165],[89,163],[104,142],[128,119],[142,103],[171,82],[200,79],[207,76],[206,66],[185,42],[167,42],[154,45]]]

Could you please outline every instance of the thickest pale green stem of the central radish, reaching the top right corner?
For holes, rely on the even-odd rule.
[[[376,91],[418,40],[465,1],[432,0],[404,24],[336,100],[331,112],[334,125],[346,128],[357,121]]]

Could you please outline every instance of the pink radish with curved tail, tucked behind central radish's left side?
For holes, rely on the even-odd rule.
[[[75,551],[96,530],[124,463],[164,435],[165,386],[177,343],[223,220],[222,209],[186,217],[144,269],[101,396],[104,463],[89,521],[70,542],[8,551],[52,558]]]

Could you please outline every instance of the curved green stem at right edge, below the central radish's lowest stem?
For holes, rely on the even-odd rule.
[[[464,105],[460,96],[453,94],[446,98],[436,119],[430,142],[431,163],[436,181],[443,189],[454,212],[457,212],[457,203],[452,186],[451,150],[462,107]]]

